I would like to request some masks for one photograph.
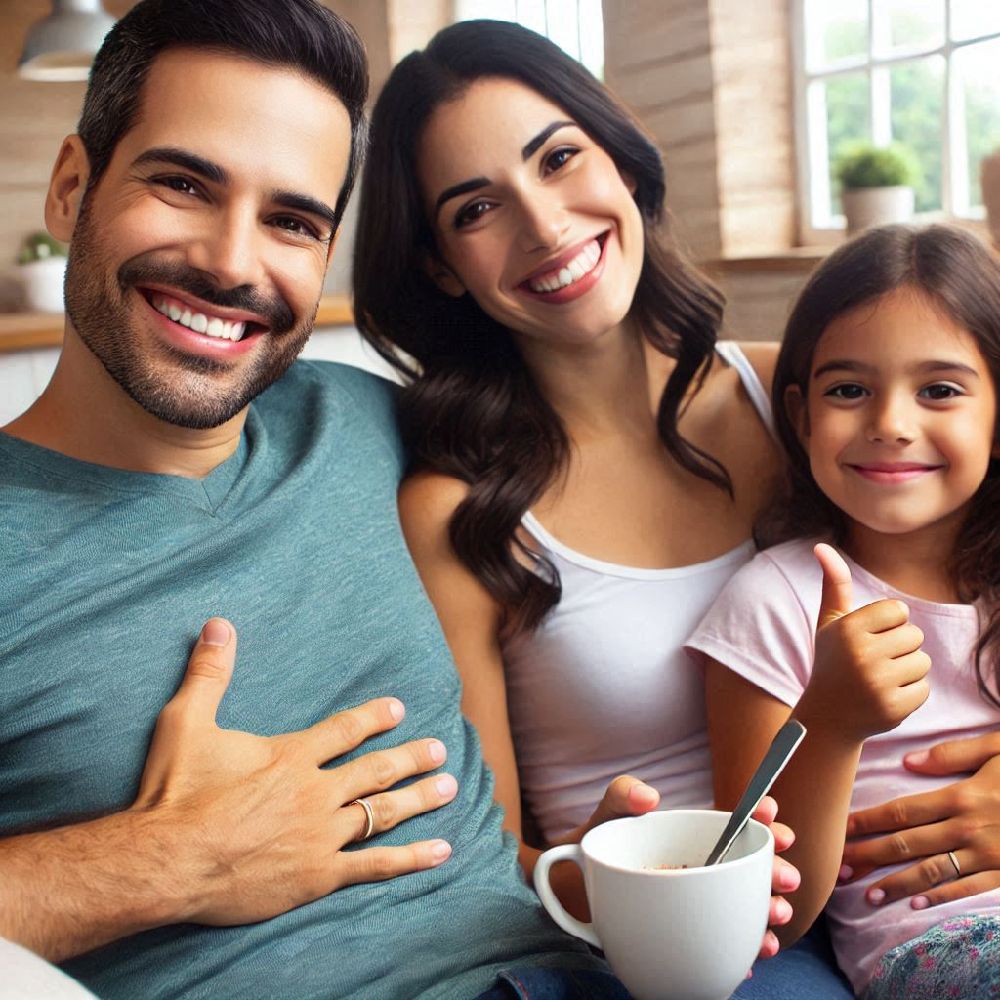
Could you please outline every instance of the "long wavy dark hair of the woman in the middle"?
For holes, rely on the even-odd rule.
[[[451,543],[504,609],[505,634],[514,634],[536,627],[560,597],[555,568],[517,531],[565,468],[569,441],[509,330],[471,295],[451,298],[428,277],[425,263],[437,251],[416,163],[434,110],[484,77],[519,81],[559,105],[635,181],[645,259],[630,316],[657,350],[676,359],[659,404],[660,436],[685,469],[731,493],[725,468],[677,429],[689,387],[711,365],[723,298],[661,238],[665,187],[656,147],[556,45],[516,24],[466,21],[392,71],[372,114],[362,177],[356,323],[408,382],[400,426],[411,471],[469,484],[451,519]]]

